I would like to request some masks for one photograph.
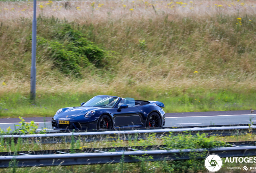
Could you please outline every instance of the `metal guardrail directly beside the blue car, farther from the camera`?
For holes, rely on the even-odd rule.
[[[238,127],[205,127],[205,128],[184,128],[184,129],[149,129],[149,130],[133,130],[133,131],[100,131],[100,132],[81,132],[81,133],[50,133],[50,134],[35,134],[35,135],[2,135],[4,139],[18,138],[40,141],[40,143],[57,143],[70,142],[71,137],[74,140],[80,139],[84,141],[101,141],[101,140],[133,140],[145,139],[149,134],[154,133],[156,137],[169,135],[169,132],[174,134],[187,133],[195,135],[197,133],[206,133],[208,135],[238,135],[248,131],[256,132],[256,126],[238,126]]]

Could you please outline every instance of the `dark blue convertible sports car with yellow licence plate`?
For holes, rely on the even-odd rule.
[[[163,127],[164,104],[115,96],[95,96],[80,107],[59,109],[52,118],[52,128],[60,131]]]

